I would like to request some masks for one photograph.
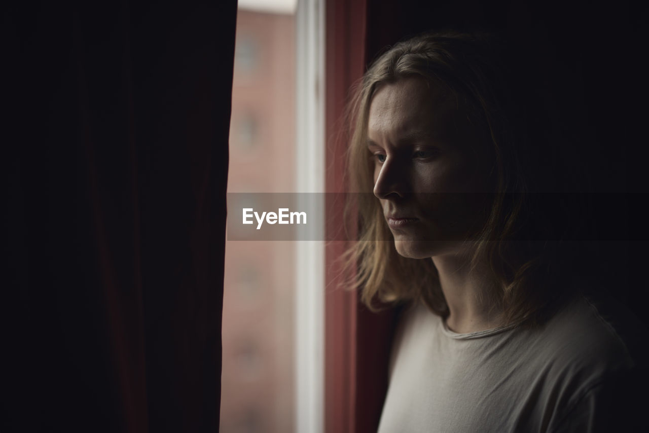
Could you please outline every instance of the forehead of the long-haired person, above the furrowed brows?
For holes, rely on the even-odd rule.
[[[456,101],[439,82],[409,77],[382,84],[370,103],[368,133],[445,135],[459,114]]]

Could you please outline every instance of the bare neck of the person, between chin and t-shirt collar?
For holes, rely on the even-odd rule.
[[[495,282],[485,264],[471,269],[470,254],[445,254],[432,258],[449,315],[447,327],[466,334],[502,325],[502,310],[493,301]]]

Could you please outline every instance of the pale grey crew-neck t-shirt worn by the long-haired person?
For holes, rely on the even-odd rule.
[[[635,431],[649,411],[644,340],[626,310],[585,296],[540,328],[470,334],[415,304],[397,329],[378,432]]]

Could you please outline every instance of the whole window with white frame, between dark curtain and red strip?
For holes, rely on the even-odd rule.
[[[324,190],[321,7],[239,1],[230,208]],[[323,431],[323,248],[227,241],[221,432]]]

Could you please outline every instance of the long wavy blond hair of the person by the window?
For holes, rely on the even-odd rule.
[[[376,301],[421,300],[432,312],[448,315],[432,260],[397,253],[380,202],[371,193],[369,106],[380,86],[413,76],[446,86],[493,148],[496,192],[471,258],[471,266],[488,264],[498,283],[491,301],[500,305],[508,323],[522,319],[539,323],[546,307],[557,298],[561,249],[557,242],[546,241],[555,235],[531,194],[543,178],[535,168],[544,152],[539,150],[546,139],[539,126],[544,120],[539,110],[530,110],[530,102],[537,102],[530,93],[533,86],[511,67],[516,59],[506,47],[491,34],[422,34],[380,55],[354,88],[347,113],[347,162],[351,190],[358,193],[352,194],[354,203],[350,204],[358,241],[345,258],[353,275],[347,284],[361,290],[361,299],[369,308],[375,309]]]

